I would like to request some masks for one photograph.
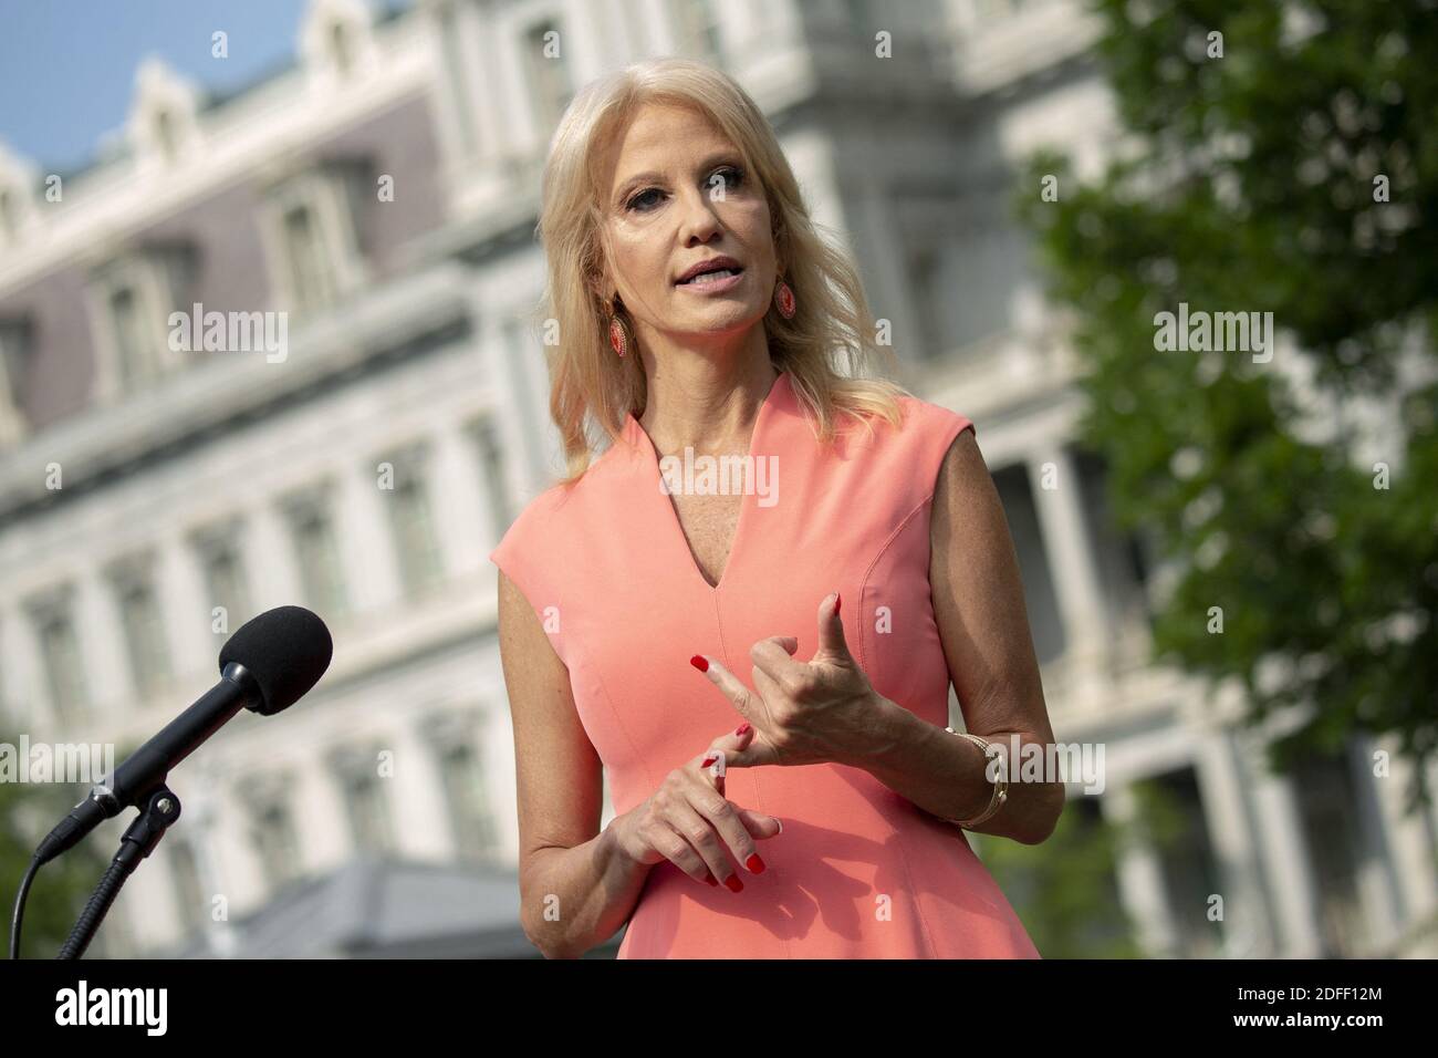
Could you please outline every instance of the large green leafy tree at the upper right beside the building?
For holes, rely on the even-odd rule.
[[[1030,158],[1018,210],[1073,321],[1081,440],[1173,574],[1155,651],[1241,681],[1248,723],[1299,707],[1276,767],[1362,731],[1396,736],[1421,776],[1438,740],[1438,4],[1094,10],[1123,143],[1089,181]],[[1181,302],[1273,312],[1287,341],[1267,363],[1160,351],[1158,314]]]

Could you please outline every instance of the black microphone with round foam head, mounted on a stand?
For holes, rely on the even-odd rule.
[[[37,864],[73,848],[105,819],[148,795],[236,713],[270,717],[299,701],[329,668],[334,641],[318,615],[280,606],[247,620],[220,649],[220,682],[135,750],[50,831],[35,852]]]

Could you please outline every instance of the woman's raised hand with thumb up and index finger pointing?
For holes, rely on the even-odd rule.
[[[705,675],[754,727],[746,749],[725,754],[728,767],[851,764],[886,749],[892,702],[848,652],[838,610],[837,593],[820,603],[818,651],[807,662],[789,656],[798,648],[794,636],[771,636],[751,648],[758,694],[713,658],[695,655],[695,668],[706,662]]]

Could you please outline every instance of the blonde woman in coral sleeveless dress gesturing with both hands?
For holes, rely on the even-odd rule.
[[[490,556],[526,934],[1037,957],[952,822],[1037,844],[1063,805],[985,773],[1053,741],[1007,524],[968,419],[831,369],[873,321],[754,101],[676,59],[591,83],[539,230],[571,474]]]

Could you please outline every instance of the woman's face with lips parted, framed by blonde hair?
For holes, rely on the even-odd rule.
[[[611,151],[605,292],[618,291],[638,337],[726,334],[762,320],[778,262],[768,200],[738,148],[705,115],[649,104]],[[738,262],[736,279],[680,282],[719,255]]]

